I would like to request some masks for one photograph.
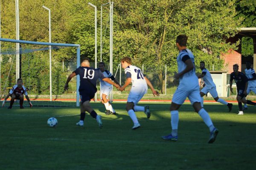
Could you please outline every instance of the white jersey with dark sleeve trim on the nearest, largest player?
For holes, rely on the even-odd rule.
[[[192,62],[194,64],[194,68],[191,71],[183,74],[182,77],[180,77],[179,87],[190,89],[190,88],[195,88],[198,86],[198,88],[199,88],[198,77],[195,75],[195,58],[189,49],[180,51],[180,53],[177,57],[178,73],[185,70],[185,68],[187,67],[186,63],[182,61],[183,57],[185,57],[185,56],[188,56],[192,60]]]

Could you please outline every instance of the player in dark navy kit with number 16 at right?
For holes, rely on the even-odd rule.
[[[236,100],[238,102],[238,107],[239,107],[238,115],[243,115],[244,113],[242,108],[242,102],[248,105],[256,105],[256,103],[245,99],[245,97],[247,96],[248,79],[245,76],[245,74],[238,71],[238,68],[239,66],[237,64],[233,65],[234,72],[230,74],[230,91],[233,93],[232,84],[234,79],[236,82],[236,89],[237,89]]]

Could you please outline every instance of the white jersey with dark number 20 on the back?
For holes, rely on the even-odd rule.
[[[144,87],[148,89],[147,82],[144,79],[144,75],[140,70],[140,68],[134,65],[129,65],[127,68],[125,68],[125,74],[126,74],[126,78],[131,78],[132,88]]]

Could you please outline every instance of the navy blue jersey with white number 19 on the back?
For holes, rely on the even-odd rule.
[[[94,93],[96,93],[97,79],[105,78],[101,71],[91,67],[80,66],[73,72],[76,73],[76,75],[80,76],[79,91],[87,90],[87,91],[95,91]]]

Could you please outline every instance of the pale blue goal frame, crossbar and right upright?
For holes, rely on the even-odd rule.
[[[80,45],[79,44],[65,44],[65,43],[52,43],[52,42],[35,42],[35,41],[25,41],[25,40],[13,40],[13,39],[6,39],[6,38],[0,38],[0,42],[13,42],[13,43],[20,43],[20,44],[31,44],[31,45],[43,45],[43,46],[50,46],[51,49],[53,49],[54,46],[56,47],[75,47],[76,48],[76,68],[80,66]],[[2,45],[3,47],[3,45]],[[34,51],[40,51],[40,50],[45,50],[47,48],[39,49],[39,50],[34,50]],[[56,48],[57,49],[57,48]],[[27,50],[29,51],[29,50]],[[0,51],[1,55],[4,54],[3,49]],[[33,52],[33,50],[31,50]],[[26,52],[29,53],[29,52]],[[1,65],[0,61],[0,65]],[[1,67],[0,67],[1,68]],[[22,77],[21,77],[22,78]],[[0,82],[1,83],[1,82]],[[76,77],[76,106],[79,106],[79,85],[80,85],[80,77]],[[6,88],[6,87],[4,87]],[[64,87],[63,87],[64,88]]]

